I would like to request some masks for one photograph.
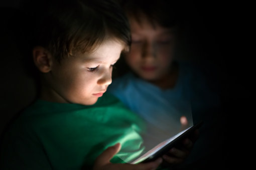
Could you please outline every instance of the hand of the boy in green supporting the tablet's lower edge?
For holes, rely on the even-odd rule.
[[[93,170],[147,170],[156,169],[161,163],[162,158],[148,163],[129,164],[129,163],[111,163],[110,159],[120,150],[121,145],[117,143],[104,150],[95,160]]]

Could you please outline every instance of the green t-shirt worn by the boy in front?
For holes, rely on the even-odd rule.
[[[117,142],[122,148],[111,161],[129,161],[144,149],[143,130],[142,119],[107,93],[93,105],[36,100],[5,136],[1,164],[3,169],[87,169]]]

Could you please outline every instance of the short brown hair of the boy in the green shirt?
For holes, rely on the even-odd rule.
[[[43,46],[59,61],[108,38],[131,44],[129,22],[114,0],[45,0],[32,9],[31,47]]]

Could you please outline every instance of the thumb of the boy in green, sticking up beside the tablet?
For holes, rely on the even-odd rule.
[[[102,166],[109,163],[110,159],[121,149],[121,144],[116,143],[105,149],[95,160],[95,165]]]

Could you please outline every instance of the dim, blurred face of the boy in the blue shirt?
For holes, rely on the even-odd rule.
[[[132,46],[125,56],[127,64],[142,78],[157,80],[170,71],[173,58],[174,34],[172,29],[155,27],[145,18],[141,24],[130,17]]]

